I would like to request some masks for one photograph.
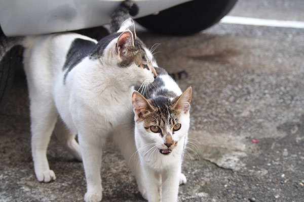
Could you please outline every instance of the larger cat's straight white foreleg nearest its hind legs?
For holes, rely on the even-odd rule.
[[[93,134],[79,134],[79,142],[87,181],[86,202],[98,202],[102,198],[101,156],[102,138]]]

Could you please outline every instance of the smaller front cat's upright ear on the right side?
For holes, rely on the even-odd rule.
[[[192,87],[188,87],[180,96],[173,99],[173,109],[181,110],[185,114],[190,110]]]

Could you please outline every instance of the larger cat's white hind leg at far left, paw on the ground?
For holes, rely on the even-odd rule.
[[[30,93],[31,148],[36,177],[41,182],[55,180],[47,160],[47,148],[56,120],[57,110],[51,97]]]

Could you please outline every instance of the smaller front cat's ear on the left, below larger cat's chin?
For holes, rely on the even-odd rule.
[[[137,91],[134,91],[132,94],[132,105],[136,118],[140,118],[143,115],[154,111],[154,107],[152,107],[148,100]]]

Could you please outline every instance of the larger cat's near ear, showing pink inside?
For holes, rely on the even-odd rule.
[[[116,53],[125,56],[130,47],[134,47],[133,34],[130,30],[124,31],[117,39],[115,44]]]

